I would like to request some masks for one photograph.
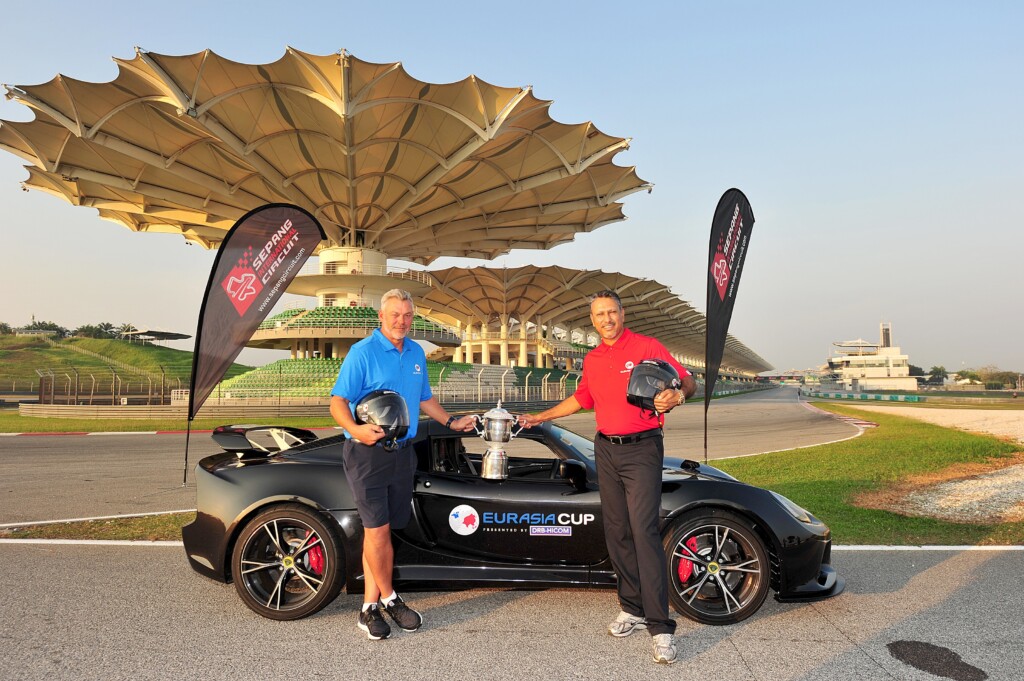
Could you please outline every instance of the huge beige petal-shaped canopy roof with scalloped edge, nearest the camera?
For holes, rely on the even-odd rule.
[[[627,139],[554,121],[529,87],[430,84],[344,51],[115,62],[108,83],[5,86],[36,116],[0,122],[0,148],[28,162],[27,187],[134,231],[216,248],[247,211],[288,202],[325,246],[495,258],[623,219],[617,202],[650,187],[612,163]]]

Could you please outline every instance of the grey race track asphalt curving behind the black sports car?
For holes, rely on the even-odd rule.
[[[585,434],[595,430],[593,414],[559,423]],[[709,459],[819,444],[858,432],[808,410],[794,388],[716,399],[708,423]],[[180,433],[0,437],[0,524],[195,508],[191,469],[220,449],[209,433],[194,433],[182,486],[184,444]],[[666,451],[703,458],[702,403],[668,416]]]

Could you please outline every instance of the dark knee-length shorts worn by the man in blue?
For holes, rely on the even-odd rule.
[[[390,524],[401,529],[409,524],[413,510],[413,476],[416,452],[412,444],[387,452],[382,446],[367,446],[345,440],[342,450],[345,475],[355,497],[355,508],[364,527]]]

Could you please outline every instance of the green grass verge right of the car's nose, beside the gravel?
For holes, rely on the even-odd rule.
[[[1024,544],[1024,522],[967,524],[860,508],[856,495],[965,463],[986,464],[1021,448],[913,419],[845,405],[816,407],[879,424],[860,437],[821,446],[716,462],[729,474],[784,495],[810,510],[837,544]]]

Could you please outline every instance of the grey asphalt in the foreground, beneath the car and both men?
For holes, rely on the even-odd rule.
[[[838,550],[834,563],[848,587],[830,600],[769,598],[729,627],[680,620],[680,662],[665,668],[646,633],[604,633],[612,591],[407,593],[424,628],[369,641],[357,596],[306,620],[263,620],[233,587],[193,572],[179,547],[0,543],[0,670],[105,681],[1021,678],[1024,552]]]

